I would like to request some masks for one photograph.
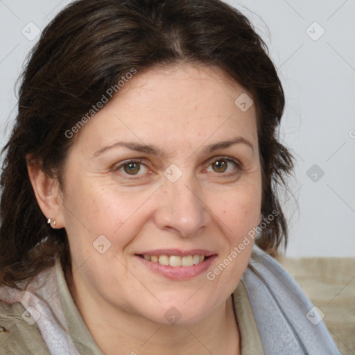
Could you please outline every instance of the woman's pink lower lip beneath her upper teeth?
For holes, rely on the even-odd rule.
[[[148,261],[138,255],[135,255],[150,270],[157,272],[158,274],[173,280],[182,280],[182,279],[192,279],[203,272],[206,272],[211,266],[212,261],[216,259],[217,255],[212,255],[208,257],[201,263],[192,266],[166,266],[161,263],[154,263],[153,261]]]

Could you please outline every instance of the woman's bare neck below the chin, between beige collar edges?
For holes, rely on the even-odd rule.
[[[87,297],[92,290],[84,285],[78,289],[71,277],[67,277],[67,282],[87,328],[105,355],[240,354],[232,297],[196,324],[166,325],[103,306],[102,300]]]

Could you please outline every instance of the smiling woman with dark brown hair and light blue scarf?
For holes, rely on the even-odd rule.
[[[268,254],[284,94],[218,0],[79,0],[28,60],[1,176],[3,354],[339,354]]]

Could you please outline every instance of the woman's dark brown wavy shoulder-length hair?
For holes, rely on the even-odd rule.
[[[252,94],[257,108],[264,216],[279,214],[257,239],[277,251],[287,225],[277,198],[293,157],[277,139],[284,92],[266,44],[238,10],[218,0],[78,0],[44,28],[21,73],[15,126],[3,148],[0,284],[17,287],[52,266],[70,265],[64,228],[52,229],[37,204],[26,156],[62,182],[65,135],[130,69],[207,64]],[[61,185],[62,186],[62,185]]]

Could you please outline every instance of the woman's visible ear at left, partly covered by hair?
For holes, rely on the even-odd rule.
[[[64,227],[62,214],[62,192],[58,179],[50,178],[42,171],[41,162],[31,161],[31,155],[26,156],[28,176],[30,178],[36,200],[47,219],[51,218],[51,227]],[[53,225],[55,220],[55,226]]]

